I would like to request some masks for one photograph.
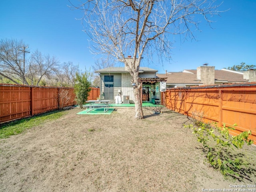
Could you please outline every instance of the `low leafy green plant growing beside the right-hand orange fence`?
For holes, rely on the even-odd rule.
[[[237,136],[229,134],[230,129],[235,130],[236,124],[232,127],[218,128],[213,124],[206,124],[201,121],[194,121],[195,125],[184,125],[185,128],[191,128],[193,134],[198,138],[198,142],[202,143],[206,150],[207,162],[214,169],[219,170],[224,176],[232,176],[239,178],[241,166],[245,165],[244,162],[230,153],[230,149],[241,149],[244,144],[251,145],[253,140],[249,140],[248,136],[250,131],[242,132]]]

